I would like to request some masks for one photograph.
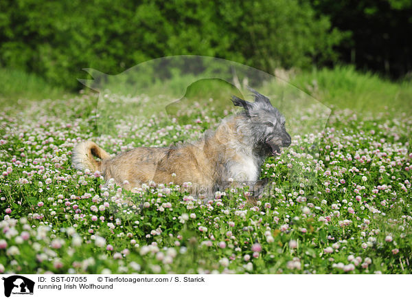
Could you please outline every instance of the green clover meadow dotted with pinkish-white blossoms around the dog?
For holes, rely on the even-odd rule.
[[[196,139],[219,122],[195,105],[189,124],[160,113],[98,134],[94,100],[0,112],[0,273],[412,272],[410,115],[332,109],[324,129],[305,135],[299,127],[322,115],[297,115],[292,145],[262,165],[270,192],[252,204],[247,188],[202,201],[190,182],[132,193],[74,170],[71,151],[84,140],[115,155]]]

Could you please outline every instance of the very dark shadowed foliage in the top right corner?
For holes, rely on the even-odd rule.
[[[351,37],[336,49],[341,61],[358,69],[401,78],[412,69],[411,0],[310,0],[332,25]]]

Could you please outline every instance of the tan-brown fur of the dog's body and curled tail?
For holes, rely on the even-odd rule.
[[[139,188],[149,181],[158,184],[173,182],[180,186],[190,181],[194,188],[209,193],[217,184],[221,167],[218,165],[218,157],[225,156],[233,162],[242,159],[233,148],[227,146],[228,141],[239,137],[235,124],[236,118],[233,118],[218,126],[213,135],[194,144],[171,148],[139,147],[113,158],[94,142],[84,142],[78,144],[73,151],[73,166],[82,170],[89,168],[93,172],[98,170],[104,179],[113,178],[127,190]],[[80,155],[82,159],[79,158]],[[128,184],[124,184],[125,181]]]

